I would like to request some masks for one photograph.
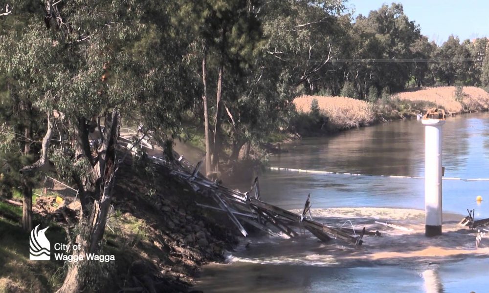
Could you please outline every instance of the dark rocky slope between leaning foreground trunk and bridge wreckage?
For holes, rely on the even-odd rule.
[[[134,171],[141,167],[146,171],[136,176]],[[238,243],[224,215],[196,205],[211,199],[169,169],[143,162],[122,166],[119,172],[114,207],[122,218],[139,223],[136,230],[143,235],[130,251],[119,247],[121,254],[132,256],[125,265],[118,264],[121,289],[142,286],[148,292],[187,292],[202,265],[223,261],[223,251]],[[126,226],[134,234],[134,225]],[[117,233],[113,234],[109,238],[117,243]]]

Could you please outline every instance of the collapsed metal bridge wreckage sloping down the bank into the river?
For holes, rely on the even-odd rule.
[[[184,162],[185,160],[182,156],[177,157],[179,157],[178,163],[175,163],[179,165],[179,168],[173,168],[171,173],[190,182],[196,191],[200,191],[216,202],[215,207],[197,204],[202,208],[227,213],[232,223],[244,236],[248,235],[248,233],[242,223],[249,224],[274,236],[282,232],[291,238],[297,237],[299,234],[291,228],[294,227],[301,230],[309,230],[314,236],[324,242],[330,241],[332,238],[338,238],[355,246],[361,246],[363,243],[363,236],[366,233],[365,228],[360,232],[354,229],[336,229],[312,220],[310,196],[307,198],[302,214],[295,214],[262,201],[258,188],[258,178],[255,179],[250,190],[242,193],[223,187],[201,175],[199,172],[201,162],[191,170],[188,169],[191,164]],[[161,158],[150,158],[158,165],[168,166],[167,162]],[[310,217],[306,216],[308,213]],[[356,234],[356,232],[359,233]]]

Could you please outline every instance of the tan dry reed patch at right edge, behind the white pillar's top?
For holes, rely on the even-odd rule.
[[[489,94],[482,88],[464,86],[464,97],[457,99],[455,86],[428,87],[422,90],[396,94],[401,100],[428,101],[444,108],[449,113],[481,111],[489,108]]]

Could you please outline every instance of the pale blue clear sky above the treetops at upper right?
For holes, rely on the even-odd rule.
[[[382,4],[400,2],[410,21],[420,25],[421,33],[441,45],[450,35],[461,41],[489,37],[489,0],[348,0],[354,16],[367,16]]]

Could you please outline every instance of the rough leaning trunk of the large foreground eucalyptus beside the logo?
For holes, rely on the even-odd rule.
[[[119,138],[119,124],[120,115],[117,111],[111,117],[108,115],[103,133],[104,143],[97,149],[98,158],[92,167],[91,174],[77,180],[81,185],[79,189],[82,190],[80,197],[85,199],[80,198],[83,209],[78,225],[80,231],[76,237],[79,249],[73,251],[72,254],[83,256],[83,260],[70,264],[65,281],[57,293],[83,291],[87,286],[84,282],[87,276],[81,275],[81,272],[83,274],[96,273],[89,269],[90,264],[86,255],[99,251],[100,242],[104,236],[115,184],[115,172],[117,171],[115,147]],[[78,131],[77,135],[79,136],[76,138],[77,141],[81,142],[81,145],[77,147],[77,152],[80,152],[81,156],[89,156],[89,154],[84,153],[86,147],[83,143],[87,140],[84,136],[88,134]],[[96,192],[92,190],[96,190]],[[89,200],[92,196],[94,198],[93,203]]]

